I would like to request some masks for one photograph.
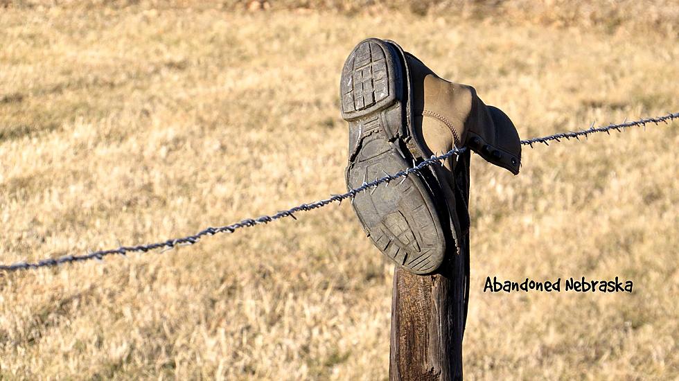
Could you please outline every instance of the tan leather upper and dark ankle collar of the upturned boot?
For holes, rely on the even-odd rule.
[[[521,143],[500,109],[486,106],[473,87],[443,80],[406,53],[412,80],[412,111],[432,152],[467,146],[486,161],[519,172]]]

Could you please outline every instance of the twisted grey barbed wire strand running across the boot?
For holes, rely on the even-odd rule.
[[[533,144],[535,143],[545,143],[545,145],[549,145],[549,141],[561,141],[561,139],[578,139],[580,136],[585,136],[587,138],[590,134],[598,133],[598,132],[607,132],[610,134],[610,130],[617,130],[617,131],[622,131],[627,127],[635,127],[635,126],[645,126],[646,124],[649,123],[668,123],[669,121],[673,121],[674,119],[679,118],[679,112],[672,113],[672,114],[667,114],[664,116],[658,116],[655,118],[645,118],[645,119],[640,119],[638,121],[624,121],[623,123],[619,124],[610,124],[606,127],[594,127],[592,126],[588,130],[583,130],[583,131],[578,131],[578,132],[561,132],[558,134],[553,134],[553,135],[548,135],[548,136],[541,136],[541,137],[536,137],[533,139],[527,139],[527,140],[522,140],[521,144],[522,145],[530,145],[531,148],[533,148]],[[440,154],[438,156],[432,155],[432,157],[425,159],[421,161],[420,163],[407,168],[405,170],[401,170],[400,172],[396,172],[394,174],[389,174],[385,172],[384,177],[380,177],[379,179],[375,179],[373,181],[363,181],[363,184],[359,186],[358,188],[353,188],[348,190],[346,193],[342,193],[339,195],[331,195],[331,197],[328,197],[324,200],[319,200],[316,202],[311,202],[310,204],[301,204],[298,206],[294,206],[290,209],[287,209],[285,211],[279,211],[278,213],[275,213],[273,215],[263,215],[259,218],[247,218],[245,220],[241,220],[240,222],[236,222],[234,224],[230,225],[225,225],[222,227],[209,227],[206,229],[203,229],[202,231],[199,231],[198,233],[193,234],[193,236],[186,236],[183,238],[174,238],[170,240],[165,240],[162,242],[155,242],[155,243],[150,243],[146,245],[136,245],[136,246],[121,246],[118,247],[117,249],[108,249],[108,250],[100,250],[100,251],[92,251],[88,254],[84,255],[68,255],[68,256],[61,256],[59,258],[46,258],[43,260],[39,260],[35,263],[28,263],[28,262],[18,262],[18,263],[12,263],[11,265],[0,265],[0,270],[3,272],[14,272],[20,269],[38,269],[40,267],[53,267],[56,265],[61,265],[63,263],[73,263],[73,262],[80,262],[80,261],[85,261],[85,260],[103,260],[105,256],[110,256],[110,255],[120,255],[120,256],[126,256],[127,253],[132,253],[132,252],[147,252],[155,249],[164,249],[163,251],[166,251],[168,249],[173,249],[175,247],[179,246],[188,246],[188,245],[194,245],[195,243],[199,242],[201,238],[205,236],[214,236],[215,234],[218,233],[233,233],[238,229],[243,229],[245,227],[254,227],[258,224],[267,224],[269,222],[273,222],[275,220],[280,220],[281,218],[286,218],[290,217],[293,218],[294,220],[297,220],[297,218],[294,217],[294,213],[300,212],[300,211],[311,211],[313,209],[318,209],[323,206],[326,206],[328,204],[331,204],[333,202],[337,202],[338,204],[342,203],[342,200],[346,199],[351,199],[353,202],[353,197],[355,195],[358,195],[358,193],[364,192],[366,190],[369,190],[371,188],[377,188],[380,184],[386,183],[387,186],[389,186],[389,182],[394,181],[396,179],[400,179],[403,177],[402,181],[405,181],[405,177],[408,175],[412,174],[417,174],[424,168],[428,166],[432,166],[434,163],[439,163],[443,164],[443,160],[448,159],[449,157],[453,155],[459,155],[464,153],[467,150],[466,147],[462,148],[453,148],[452,150]],[[415,163],[414,163],[415,164]],[[162,252],[162,251],[161,251]]]

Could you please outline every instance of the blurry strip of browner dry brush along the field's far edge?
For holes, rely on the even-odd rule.
[[[174,10],[321,10],[344,15],[398,10],[513,26],[531,23],[608,32],[626,29],[679,37],[676,0],[0,0],[0,7],[28,9],[55,6],[68,10],[121,9],[140,4],[143,8]]]

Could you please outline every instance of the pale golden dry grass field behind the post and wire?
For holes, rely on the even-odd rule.
[[[380,9],[0,7],[0,263],[344,190],[338,82],[364,37],[475,86],[524,139],[679,111],[676,35],[636,14],[599,28]],[[678,125],[527,148],[517,177],[474,157],[469,379],[679,377]],[[297,218],[0,276],[0,379],[385,380],[391,266],[349,203]],[[486,276],[634,289],[484,294]]]

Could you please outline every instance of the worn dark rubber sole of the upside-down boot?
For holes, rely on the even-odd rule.
[[[380,39],[360,42],[347,57],[340,98],[342,118],[349,122],[349,188],[405,170],[423,157],[407,123],[404,81],[405,64],[396,48]],[[373,244],[415,274],[434,272],[446,252],[435,205],[432,188],[422,175],[380,185],[353,200]]]

